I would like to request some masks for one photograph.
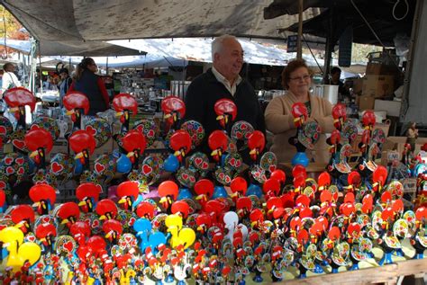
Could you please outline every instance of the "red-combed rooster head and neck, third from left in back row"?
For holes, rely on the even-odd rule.
[[[113,99],[113,108],[116,111],[115,115],[120,117],[120,122],[122,123],[122,134],[128,132],[129,130],[129,119],[130,112],[132,115],[136,115],[138,112],[138,102],[131,94],[117,94]]]

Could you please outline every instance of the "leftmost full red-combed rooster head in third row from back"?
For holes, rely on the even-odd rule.
[[[30,199],[34,202],[33,207],[37,207],[39,215],[49,214],[57,199],[56,191],[48,184],[37,184],[30,189]]]

